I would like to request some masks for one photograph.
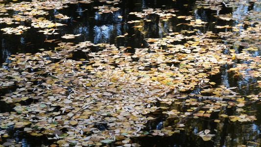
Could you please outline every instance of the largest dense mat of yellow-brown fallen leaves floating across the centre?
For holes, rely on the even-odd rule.
[[[149,48],[136,49],[134,54],[125,53],[124,47],[83,42],[78,45],[60,43],[57,51],[14,55],[10,58],[12,62],[0,70],[6,85],[15,83],[19,87],[2,99],[15,103],[16,112],[2,114],[1,127],[24,127],[24,131],[34,136],[54,135],[49,138],[59,139],[57,143],[64,146],[70,142],[77,142],[77,145],[100,145],[112,140],[127,143],[129,137],[142,135],[144,123],[152,119],[144,114],[158,109],[153,102],[160,100],[171,104],[174,100],[159,96],[174,88],[186,91],[206,85],[209,75],[218,73],[220,65],[231,62],[230,56],[221,53],[222,44],[209,39],[211,35],[169,34],[163,39],[148,39]],[[173,48],[170,43],[182,37],[194,38],[191,46]],[[212,45],[200,45],[206,41]],[[97,46],[102,51],[88,52],[89,61],[68,59],[73,50],[90,46]],[[164,46],[169,48],[163,49]],[[155,68],[147,68],[151,66]],[[221,95],[223,93],[216,94]],[[28,99],[34,102],[20,104]],[[218,109],[218,105],[209,108]],[[86,106],[88,109],[79,111]],[[181,118],[190,115],[175,112],[178,114]],[[194,115],[210,116],[204,112]],[[252,120],[255,118],[249,119]],[[102,124],[106,124],[105,130],[99,127]],[[182,129],[181,126],[185,125],[176,129]],[[64,128],[66,131],[62,131]],[[174,130],[159,131],[154,135],[175,133]]]

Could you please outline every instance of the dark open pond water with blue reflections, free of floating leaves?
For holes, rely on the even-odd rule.
[[[23,0],[20,0],[23,1]],[[5,1],[8,3],[9,1]],[[19,2],[19,1],[17,1]],[[52,50],[57,47],[58,43],[47,43],[45,40],[57,39],[56,41],[72,42],[77,44],[78,42],[91,41],[94,44],[98,43],[110,43],[115,44],[117,47],[124,46],[129,47],[128,52],[134,52],[135,48],[146,48],[147,43],[144,41],[145,38],[162,38],[165,33],[181,32],[182,30],[193,30],[195,27],[189,25],[178,25],[181,23],[188,23],[184,19],[177,19],[176,17],[170,18],[167,22],[160,21],[157,15],[150,15],[148,19],[153,20],[152,22],[141,22],[140,25],[144,25],[144,34],[134,28],[135,23],[129,24],[128,21],[142,20],[137,18],[135,15],[129,15],[130,12],[141,12],[147,8],[162,8],[179,10],[175,14],[177,16],[195,16],[196,19],[201,19],[204,22],[208,22],[204,27],[196,27],[197,33],[205,33],[207,31],[213,31],[214,33],[231,31],[231,28],[216,28],[216,25],[235,25],[237,21],[223,21],[214,17],[218,14],[237,14],[246,13],[250,10],[259,11],[260,4],[252,2],[250,5],[243,5],[242,8],[226,7],[222,5],[221,10],[211,10],[204,8],[197,8],[195,6],[195,0],[123,0],[115,7],[119,7],[118,11],[113,13],[99,14],[94,6],[102,6],[103,2],[92,2],[90,4],[77,3],[68,4],[69,7],[56,10],[48,10],[49,15],[45,16],[47,20],[57,21],[64,26],[59,26],[56,30],[59,34],[57,35],[45,35],[39,28],[31,27],[25,31],[22,35],[14,34],[2,34],[0,33],[0,64],[4,62],[10,62],[8,57],[17,52],[38,52],[38,49]],[[238,10],[239,9],[239,10]],[[244,11],[241,11],[244,10]],[[12,16],[14,13],[10,11],[9,14]],[[62,13],[70,17],[68,20],[59,21],[54,15]],[[118,16],[123,16],[119,18]],[[214,22],[214,23],[213,23]],[[29,23],[24,22],[23,25],[30,26]],[[10,27],[10,25],[0,24],[0,28]],[[117,36],[128,33],[128,37],[119,38]],[[61,36],[65,34],[81,34],[75,39],[62,39]],[[191,34],[193,35],[193,33]],[[182,41],[183,43],[186,40]],[[181,43],[182,43],[181,42]],[[180,43],[179,43],[180,44]],[[240,52],[244,47],[232,46],[237,52]],[[92,51],[95,51],[93,49]],[[261,55],[259,52],[255,53],[256,56]],[[72,59],[87,58],[85,54],[80,51],[73,53]],[[226,70],[230,69],[233,65],[222,66],[221,72],[217,75],[210,77],[212,81],[218,85],[225,85],[226,87],[237,87],[236,92],[242,96],[250,94],[258,95],[260,88],[257,88],[254,83],[260,78],[238,78],[232,75],[232,73]],[[4,95],[12,91],[12,88],[0,90],[0,94]],[[160,105],[160,104],[159,104]],[[258,102],[252,103],[247,106],[248,114],[255,115],[257,121],[251,123],[231,123],[228,119],[224,120],[223,123],[215,123],[213,120],[218,118],[217,114],[214,114],[209,119],[191,119],[187,121],[185,130],[182,130],[179,134],[174,134],[170,137],[162,136],[147,136],[142,138],[132,138],[134,143],[142,145],[142,147],[233,147],[238,145],[248,145],[256,147],[257,144],[261,143],[261,104]],[[186,110],[186,108],[177,108],[172,105],[171,108]],[[10,112],[12,106],[5,102],[0,101],[0,112]],[[233,115],[235,114],[234,108],[223,108],[224,114]],[[161,129],[163,122],[165,125],[174,125],[173,120],[166,120],[166,116],[161,116],[161,110],[158,114],[153,113],[151,116],[158,117],[156,121],[147,123],[147,131],[152,129]],[[197,136],[198,130],[217,130],[213,141],[203,141]],[[41,144],[48,144],[47,139],[43,138],[31,138],[25,134],[19,133],[17,130],[10,129],[10,134],[13,135],[11,139],[22,142],[23,147],[34,147],[40,146]],[[2,144],[2,142],[0,142]]]

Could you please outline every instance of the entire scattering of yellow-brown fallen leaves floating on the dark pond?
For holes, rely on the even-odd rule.
[[[60,24],[52,23],[44,18],[34,18],[34,14],[27,11],[40,7],[50,9],[53,6],[59,9],[65,7],[66,3],[75,2],[77,1],[21,2],[6,5],[3,11],[19,9],[24,16],[16,17],[16,19],[32,20],[33,27],[47,28],[44,32],[53,34],[54,27]],[[100,13],[113,13],[119,9],[109,6],[97,8]],[[44,11],[35,12],[41,15],[47,14]],[[131,14],[139,18],[157,14],[163,21],[176,16],[173,14],[174,10],[146,9],[143,12]],[[56,17],[68,19],[63,14]],[[178,18],[190,20],[190,23],[185,25],[203,26],[206,24],[191,16]],[[15,19],[1,21],[3,20],[10,23]],[[130,23],[139,22],[131,21]],[[142,25],[135,26],[142,27]],[[241,28],[240,31],[246,34],[248,31],[255,30],[257,32],[255,35],[260,38],[260,25],[251,26],[251,28]],[[63,38],[70,39],[79,35],[67,34]],[[3,96],[1,100],[13,103],[15,112],[0,114],[1,128],[14,126],[23,128],[24,132],[32,136],[47,135],[48,139],[56,139],[56,143],[64,147],[101,146],[113,141],[125,147],[138,146],[131,145],[130,137],[147,135],[148,132],[142,131],[144,124],[154,119],[145,114],[159,108],[164,109],[164,107],[155,106],[154,103],[157,101],[168,105],[181,103],[170,96],[162,97],[166,95],[166,92],[173,90],[177,93],[202,88],[201,93],[210,93],[215,97],[224,98],[232,93],[231,90],[224,86],[211,88],[211,85],[215,83],[208,77],[219,73],[222,65],[233,64],[235,59],[247,60],[249,64],[238,64],[230,71],[242,74],[245,68],[251,68],[255,69],[255,72],[251,70],[249,76],[261,75],[258,68],[260,57],[254,57],[247,51],[236,54],[235,50],[228,49],[220,39],[213,39],[231,36],[235,34],[233,32],[219,34],[206,32],[186,36],[173,32],[166,34],[164,38],[147,38],[147,48],[137,48],[134,53],[127,53],[127,47],[116,47],[106,43],[93,44],[86,41],[76,45],[62,42],[55,50],[12,55],[9,58],[11,62],[4,63],[4,66],[0,68],[0,79],[3,81],[1,88],[11,86],[17,86],[17,88],[12,93]],[[237,35],[236,37],[238,39]],[[187,42],[174,44],[183,40]],[[49,42],[52,41],[54,40]],[[100,51],[90,52],[91,47],[98,48]],[[88,60],[70,59],[75,50],[83,51]],[[225,50],[229,50],[229,53],[225,53]],[[250,97],[257,100],[260,96]],[[209,103],[210,100],[198,102],[187,99],[185,105],[190,106],[190,109],[186,112],[173,109],[164,113],[168,114],[169,118],[177,118],[177,121],[190,115],[195,119],[209,118],[213,112],[219,112],[222,106],[228,106],[236,107],[237,114],[228,116],[220,111],[220,118],[229,118],[231,122],[256,120],[254,116],[244,114],[243,108],[246,102],[244,98],[238,96],[233,99],[237,101],[228,103],[217,101],[212,104]],[[202,106],[204,110],[194,113],[198,106]],[[215,122],[218,123],[220,120],[216,119]],[[153,130],[151,134],[171,136],[183,130],[185,126],[184,123],[178,123],[175,127],[166,126],[160,130]],[[7,137],[8,133],[1,131],[0,135]],[[214,134],[210,134],[210,130],[206,129],[198,132],[198,135],[204,141],[214,137]]]

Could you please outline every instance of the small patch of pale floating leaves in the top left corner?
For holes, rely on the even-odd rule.
[[[40,30],[39,32],[44,32],[45,34],[53,34],[49,31],[55,30],[57,26],[61,26],[64,24],[60,23],[53,23],[52,21],[46,20],[44,17],[39,16],[47,16],[49,13],[47,12],[50,9],[63,9],[65,7],[68,7],[66,4],[68,3],[91,3],[92,0],[58,0],[58,1],[51,1],[51,0],[43,0],[43,1],[23,1],[19,3],[10,3],[5,4],[4,6],[0,7],[0,12],[6,12],[2,13],[1,15],[9,15],[10,12],[18,12],[15,13],[10,17],[1,17],[0,23],[11,25],[11,24],[24,24],[25,22],[30,22],[31,26],[35,28],[49,28],[45,30]],[[7,13],[9,12],[9,13]],[[55,15],[55,18],[65,20],[69,19],[66,15],[58,14]],[[1,30],[5,31],[8,34],[16,34],[21,35],[24,31],[26,31],[30,27],[26,27],[24,25],[20,25],[18,27],[6,27],[1,28]],[[56,33],[54,33],[56,34]]]

